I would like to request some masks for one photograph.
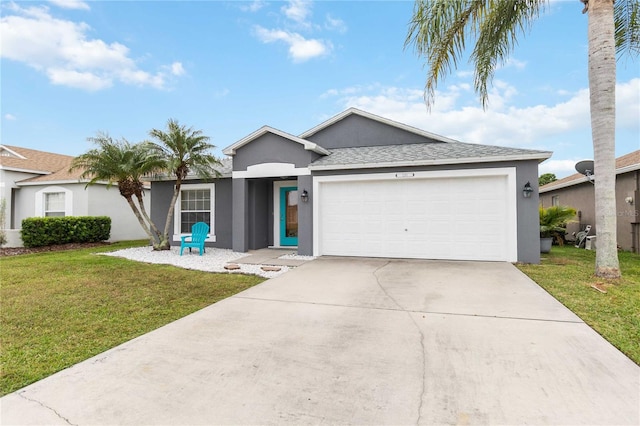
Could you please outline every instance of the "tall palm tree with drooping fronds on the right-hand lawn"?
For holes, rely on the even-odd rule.
[[[598,250],[595,274],[620,277],[615,206],[615,76],[618,53],[640,52],[640,0],[581,0],[589,14],[589,89],[596,176]],[[547,0],[416,0],[405,47],[426,59],[425,101],[431,105],[437,83],[451,72],[477,35],[471,61],[474,88],[486,108],[488,85],[504,64],[517,36],[526,32]]]

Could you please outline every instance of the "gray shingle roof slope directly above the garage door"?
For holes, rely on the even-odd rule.
[[[331,170],[534,159],[542,161],[551,156],[549,151],[463,142],[338,148],[330,152],[328,156],[314,161],[310,169]]]

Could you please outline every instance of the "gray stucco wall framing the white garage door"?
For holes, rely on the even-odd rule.
[[[314,176],[331,176],[344,174],[366,174],[366,173],[398,173],[417,172],[434,170],[466,170],[497,167],[516,168],[516,212],[517,212],[517,233],[518,233],[518,262],[540,263],[540,220],[538,214],[538,162],[531,161],[510,161],[495,163],[477,164],[450,164],[429,167],[401,167],[384,169],[360,169],[360,170],[336,170],[336,171],[314,171]],[[531,198],[524,198],[522,188],[529,182],[534,188]],[[310,199],[313,199],[311,191]],[[311,204],[311,202],[309,203]],[[313,234],[310,235],[310,244],[313,246]],[[312,250],[309,251],[309,253]],[[300,254],[303,253],[299,250]]]

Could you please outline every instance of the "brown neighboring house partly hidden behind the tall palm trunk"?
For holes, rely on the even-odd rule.
[[[598,179],[597,175],[593,176]],[[618,246],[640,253],[640,150],[616,159],[616,210]],[[591,225],[589,235],[596,235],[595,198],[593,183],[580,173],[567,176],[540,187],[543,207],[563,205],[578,211],[577,222],[567,224],[567,233]],[[596,239],[597,246],[597,239]]]

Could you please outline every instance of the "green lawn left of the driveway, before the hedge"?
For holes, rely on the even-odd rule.
[[[141,245],[0,259],[1,395],[264,281],[95,255]]]

